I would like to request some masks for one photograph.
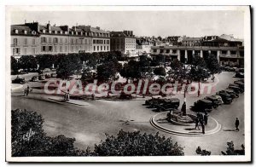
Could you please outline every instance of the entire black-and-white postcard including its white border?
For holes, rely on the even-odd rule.
[[[250,162],[250,6],[6,6],[6,161]]]

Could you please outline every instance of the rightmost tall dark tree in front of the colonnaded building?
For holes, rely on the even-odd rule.
[[[211,72],[212,78],[215,73],[220,72],[220,66],[216,55],[206,56],[207,69]]]

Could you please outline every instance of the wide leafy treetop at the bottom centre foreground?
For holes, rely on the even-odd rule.
[[[99,156],[182,156],[183,147],[171,138],[142,134],[139,131],[120,130],[117,136],[106,134],[107,139],[95,146],[94,153]]]

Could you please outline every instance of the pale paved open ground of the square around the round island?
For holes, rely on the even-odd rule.
[[[232,73],[223,72],[218,78],[217,89],[224,89],[228,83],[233,83],[235,78]],[[193,103],[196,98],[188,98]],[[44,95],[32,94],[28,97],[12,96],[12,109],[26,108],[41,113],[45,119],[44,130],[48,135],[66,135],[76,138],[76,146],[86,149],[93,147],[94,143],[105,138],[105,133],[115,135],[120,129],[141,130],[156,133],[158,130],[149,124],[148,120],[155,113],[144,107],[144,101],[90,101],[89,106],[79,107],[72,104],[56,103],[49,101]],[[189,137],[170,135],[160,132],[161,135],[172,136],[173,141],[184,147],[186,155],[194,155],[195,149],[201,146],[220,154],[225,150],[227,141],[234,141],[237,146],[244,143],[244,110],[243,95],[231,105],[218,107],[212,111],[211,116],[223,125],[222,130],[214,135],[202,137]],[[235,119],[241,120],[240,131],[235,132]]]

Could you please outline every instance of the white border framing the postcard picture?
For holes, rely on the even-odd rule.
[[[10,157],[10,14],[13,11],[136,11],[136,10],[242,10],[244,11],[245,43],[245,156],[154,156],[154,157]],[[9,162],[247,162],[251,160],[251,30],[248,6],[8,6],[6,8],[5,64],[6,64],[6,160]]]

